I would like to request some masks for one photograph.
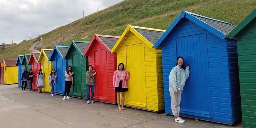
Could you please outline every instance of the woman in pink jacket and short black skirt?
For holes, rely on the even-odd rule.
[[[120,63],[118,64],[117,70],[114,72],[113,76],[113,85],[115,88],[115,91],[117,92],[117,104],[118,104],[118,110],[124,110],[124,93],[128,91],[128,87],[126,84],[126,80],[128,80],[130,76],[129,71],[124,70],[124,64]],[[120,107],[120,93],[122,92],[122,105]]]

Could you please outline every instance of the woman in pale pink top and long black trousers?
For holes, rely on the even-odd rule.
[[[74,72],[72,72],[72,67],[71,66],[68,66],[68,69],[67,71],[65,71],[65,91],[64,91],[64,97],[63,97],[63,100],[66,100],[66,99],[70,99],[69,97],[69,91],[70,91],[70,88],[71,88],[71,85],[73,85],[73,75]]]

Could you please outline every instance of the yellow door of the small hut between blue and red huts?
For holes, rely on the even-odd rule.
[[[43,66],[41,68],[42,68],[43,73],[44,73],[44,88],[43,88],[43,91],[44,92],[51,92],[51,88],[50,88],[50,85],[48,83],[48,76],[49,76],[51,71],[49,71],[48,61],[45,57],[44,57],[42,63],[43,63]]]

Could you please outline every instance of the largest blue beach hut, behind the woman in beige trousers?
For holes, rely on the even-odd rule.
[[[183,88],[180,116],[235,124],[241,121],[236,40],[228,33],[234,25],[181,11],[154,45],[162,48],[165,112],[172,114],[168,76],[182,56],[190,64]]]

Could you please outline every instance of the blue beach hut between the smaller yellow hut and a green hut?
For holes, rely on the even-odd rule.
[[[64,72],[68,68],[68,60],[67,59],[63,60],[63,56],[65,56],[65,53],[67,52],[67,50],[68,50],[68,46],[54,45],[54,48],[48,60],[48,61],[52,61],[53,68],[55,68],[57,72],[57,79],[54,86],[54,93],[61,94],[61,95],[63,95],[65,91]]]

